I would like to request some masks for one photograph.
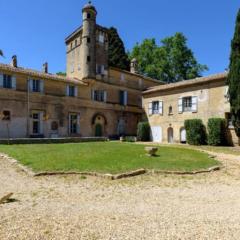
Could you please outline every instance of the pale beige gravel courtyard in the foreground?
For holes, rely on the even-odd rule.
[[[240,239],[240,157],[196,176],[27,176],[0,159],[0,239]]]

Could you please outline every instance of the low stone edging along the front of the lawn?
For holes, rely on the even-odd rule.
[[[165,170],[148,170],[148,169],[138,169],[135,171],[121,173],[121,174],[104,174],[104,173],[96,173],[96,172],[39,172],[35,173],[29,167],[25,167],[20,164],[16,159],[9,157],[7,154],[1,154],[0,158],[6,159],[13,164],[16,164],[18,168],[20,168],[23,172],[27,173],[31,177],[41,177],[41,176],[61,176],[61,175],[82,175],[82,176],[93,176],[93,177],[101,177],[109,180],[118,180],[123,178],[135,177],[143,174],[168,174],[168,175],[196,175],[201,173],[210,173],[214,171],[219,171],[223,168],[222,165],[213,166],[208,169],[202,169],[198,171],[165,171]]]

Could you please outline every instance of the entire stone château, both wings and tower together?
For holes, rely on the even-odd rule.
[[[186,142],[184,121],[226,118],[229,142],[238,139],[230,121],[227,73],[174,84],[108,66],[108,29],[96,23],[92,4],[82,26],[66,40],[67,76],[24,69],[16,56],[0,64],[0,139],[117,137],[136,135],[147,117],[155,142]],[[143,101],[143,102],[142,102]]]

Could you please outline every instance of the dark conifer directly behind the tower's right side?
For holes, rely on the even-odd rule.
[[[124,43],[116,28],[111,27],[108,31],[109,37],[109,66],[123,70],[130,69],[130,61],[125,51]]]

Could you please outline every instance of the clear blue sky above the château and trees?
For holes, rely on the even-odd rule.
[[[65,71],[64,39],[81,25],[86,0],[0,0],[0,49],[9,63],[50,72]],[[100,25],[114,26],[131,50],[144,38],[162,38],[183,32],[200,63],[222,72],[229,64],[239,0],[93,0]]]

